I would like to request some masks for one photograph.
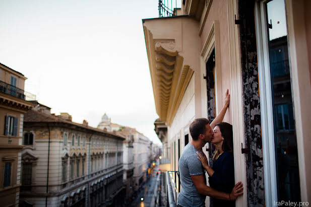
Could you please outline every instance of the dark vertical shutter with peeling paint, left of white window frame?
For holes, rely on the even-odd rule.
[[[238,1],[243,118],[245,147],[250,147],[246,154],[246,179],[248,206],[264,206],[264,168],[261,136],[260,96],[257,65],[257,47],[254,16],[254,1]]]

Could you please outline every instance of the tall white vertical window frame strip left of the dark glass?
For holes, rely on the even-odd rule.
[[[256,2],[255,23],[258,55],[258,78],[261,108],[261,127],[263,142],[264,180],[266,206],[273,206],[278,201],[277,177],[274,143],[273,104],[271,89],[271,73],[268,47],[268,32],[265,22],[267,0]]]

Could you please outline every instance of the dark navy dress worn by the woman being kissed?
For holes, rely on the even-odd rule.
[[[216,161],[213,161],[214,174],[209,177],[212,188],[222,192],[230,193],[234,187],[234,161],[233,153],[224,152]],[[222,200],[212,198],[213,207],[235,206],[234,200]]]

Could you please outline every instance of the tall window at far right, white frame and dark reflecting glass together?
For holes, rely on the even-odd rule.
[[[291,68],[285,3],[261,1],[256,6],[258,71],[266,200],[299,202],[299,168],[294,125]],[[271,127],[268,127],[271,126]],[[266,181],[265,181],[266,183]],[[268,203],[269,203],[268,202]]]

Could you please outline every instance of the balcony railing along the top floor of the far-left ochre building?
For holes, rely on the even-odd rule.
[[[34,101],[36,100],[36,96],[25,92],[22,89],[19,89],[11,84],[5,83],[3,81],[0,81],[0,93],[5,93],[5,94],[9,94],[11,96],[23,99],[27,101]]]

